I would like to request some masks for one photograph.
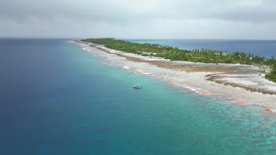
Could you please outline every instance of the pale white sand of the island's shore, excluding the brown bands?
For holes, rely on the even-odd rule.
[[[217,84],[206,80],[208,77],[205,75],[215,74],[212,72],[193,72],[187,73],[179,70],[165,69],[149,65],[148,63],[143,62],[132,62],[127,61],[124,57],[119,57],[114,54],[121,54],[128,57],[139,58],[147,61],[165,61],[170,62],[169,60],[164,60],[156,57],[143,57],[135,54],[122,53],[121,51],[108,49],[99,45],[99,47],[108,50],[110,53],[107,53],[103,50],[100,50],[96,47],[91,47],[89,44],[77,43],[84,50],[88,50],[94,53],[96,56],[104,57],[103,62],[108,65],[120,66],[122,69],[132,71],[135,74],[146,75],[150,78],[160,78],[164,80],[171,81],[174,84],[180,84],[187,88],[190,88],[194,91],[198,91],[204,95],[223,95],[225,98],[233,99],[236,101],[244,101],[249,104],[259,105],[263,107],[269,107],[272,111],[276,111],[276,95],[262,94],[259,92],[251,92],[244,90],[240,87],[225,86],[223,84]],[[195,66],[211,66],[214,64],[203,64],[203,63],[191,63],[191,62],[180,62],[174,61],[174,64],[191,64]],[[250,65],[237,65],[237,64],[220,64],[221,66],[246,66],[249,69],[257,70],[258,67]],[[216,73],[217,74],[217,73]],[[259,75],[261,74],[261,75]],[[254,86],[260,89],[267,89],[276,91],[276,84],[274,82],[265,80],[263,78],[264,73],[250,73],[247,75],[244,74],[219,74],[221,75],[220,80],[227,81],[231,83],[236,83],[244,86]]]

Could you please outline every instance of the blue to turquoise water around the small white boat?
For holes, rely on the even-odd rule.
[[[263,109],[103,59],[65,39],[0,40],[0,154],[276,153]]]

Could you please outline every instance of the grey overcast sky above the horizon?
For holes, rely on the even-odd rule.
[[[0,37],[276,39],[276,0],[1,0]]]

